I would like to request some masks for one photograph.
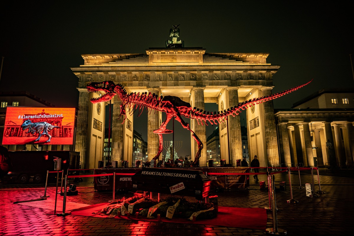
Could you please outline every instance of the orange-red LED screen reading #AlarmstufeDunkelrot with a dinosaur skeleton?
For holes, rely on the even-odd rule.
[[[73,144],[75,108],[7,107],[2,144]]]

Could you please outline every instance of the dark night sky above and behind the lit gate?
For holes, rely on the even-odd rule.
[[[1,1],[0,91],[28,91],[57,107],[78,107],[78,78],[70,67],[84,63],[81,54],[145,53],[164,47],[177,24],[185,47],[269,53],[267,62],[281,65],[273,93],[314,79],[274,100],[274,108],[291,108],[322,88],[354,87],[353,2],[172,2]],[[190,154],[189,132],[175,133],[184,141],[178,155]]]

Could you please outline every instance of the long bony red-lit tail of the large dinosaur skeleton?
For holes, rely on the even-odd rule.
[[[224,111],[218,111],[218,112],[214,112],[214,114],[211,112],[209,114],[209,111],[206,112],[203,110],[199,110],[197,108],[193,108],[193,110],[190,112],[190,117],[192,119],[196,119],[199,123],[199,120],[201,121],[201,124],[203,125],[203,121],[206,125],[208,125],[206,122],[209,121],[212,125],[213,124],[217,124],[217,123],[220,123],[221,121],[225,121],[225,119],[227,119],[227,116],[229,115],[232,115],[232,116],[235,116],[235,115],[239,115],[239,113],[241,112],[241,110],[245,110],[249,107],[252,107],[252,105],[255,105],[255,104],[259,104],[259,103],[263,103],[263,102],[266,102],[266,101],[269,101],[269,100],[273,100],[275,98],[279,98],[281,96],[284,96],[285,94],[288,94],[288,93],[291,93],[293,91],[296,91],[298,90],[299,88],[302,88],[306,85],[308,85],[312,80],[310,80],[309,82],[307,82],[306,84],[303,84],[303,85],[299,85],[299,86],[296,86],[296,87],[293,87],[289,90],[285,90],[283,92],[280,92],[280,93],[275,93],[275,94],[272,94],[272,95],[269,95],[269,96],[264,96],[264,97],[259,97],[259,98],[252,98],[250,100],[247,100],[235,107],[231,107],[227,110],[224,110]]]

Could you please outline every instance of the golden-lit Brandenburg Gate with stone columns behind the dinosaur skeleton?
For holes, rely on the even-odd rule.
[[[173,44],[169,42],[165,48],[149,48],[142,54],[83,54],[84,64],[71,68],[79,78],[75,151],[81,154],[82,168],[97,168],[102,160],[105,122],[102,108],[108,105],[90,102],[92,97],[103,94],[89,93],[86,89],[89,82],[111,80],[123,85],[127,92],[177,96],[202,110],[205,103],[216,103],[222,111],[272,93],[272,76],[280,66],[267,63],[268,53],[206,53],[202,47],[171,47]],[[114,96],[112,102],[111,160],[132,163],[133,116],[127,112],[127,119],[121,124],[119,96]],[[247,114],[250,156],[257,155],[261,166],[279,165],[273,101],[243,112]],[[204,145],[200,166],[206,166],[205,126],[183,118]],[[159,137],[153,130],[159,128],[161,119],[160,112],[148,114],[149,160],[158,152]],[[236,160],[242,158],[240,117],[229,116],[227,122],[220,123],[219,135],[222,158],[236,165]],[[197,146],[192,137],[190,142],[193,158]]]

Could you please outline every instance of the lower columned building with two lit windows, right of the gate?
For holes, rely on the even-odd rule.
[[[320,90],[275,111],[281,166],[353,167],[352,91]]]

